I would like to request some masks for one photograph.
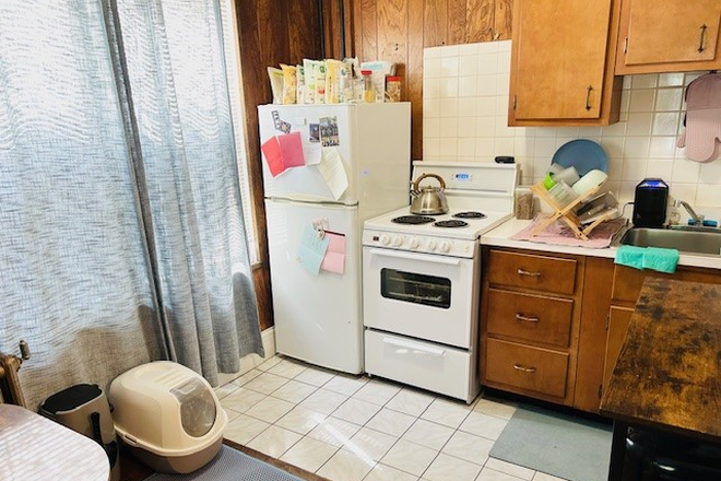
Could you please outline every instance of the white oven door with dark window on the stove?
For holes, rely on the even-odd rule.
[[[363,248],[366,327],[470,349],[477,317],[474,258]]]

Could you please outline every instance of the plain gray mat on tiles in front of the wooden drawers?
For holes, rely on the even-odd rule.
[[[612,426],[521,406],[490,457],[571,481],[606,481]]]

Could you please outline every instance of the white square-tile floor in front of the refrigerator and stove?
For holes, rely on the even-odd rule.
[[[564,481],[488,457],[513,414],[280,355],[218,387],[225,437],[332,481]]]

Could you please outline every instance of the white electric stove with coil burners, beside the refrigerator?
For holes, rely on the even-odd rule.
[[[415,162],[446,183],[449,212],[410,207],[363,232],[365,369],[471,402],[478,392],[478,238],[512,215],[515,164]]]

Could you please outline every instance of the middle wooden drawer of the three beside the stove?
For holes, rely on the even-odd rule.
[[[574,301],[488,290],[488,333],[567,348]]]

